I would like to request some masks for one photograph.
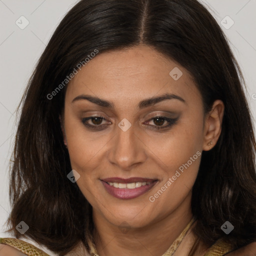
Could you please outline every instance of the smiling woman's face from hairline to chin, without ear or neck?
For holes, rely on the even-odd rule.
[[[147,46],[99,52],[68,84],[63,128],[94,215],[142,227],[190,210],[209,141],[201,95],[179,64]]]

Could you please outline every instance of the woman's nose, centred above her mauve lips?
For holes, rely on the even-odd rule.
[[[130,170],[146,160],[146,145],[134,125],[126,131],[116,125],[116,135],[111,139],[107,157],[111,164],[117,165],[122,170]]]

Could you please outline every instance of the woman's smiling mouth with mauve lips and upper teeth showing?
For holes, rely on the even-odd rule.
[[[111,177],[100,181],[110,195],[119,199],[132,199],[146,193],[158,180],[141,177]]]

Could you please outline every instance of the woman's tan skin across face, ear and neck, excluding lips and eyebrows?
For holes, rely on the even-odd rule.
[[[178,80],[169,75],[174,67],[183,73]],[[138,109],[141,100],[163,93],[178,95],[185,102],[167,99]],[[72,102],[82,94],[111,101],[114,108],[85,99]],[[191,75],[145,45],[99,53],[74,76],[66,90],[62,131],[72,169],[80,175],[77,185],[93,207],[94,239],[100,256],[120,251],[124,256],[160,256],[167,250],[192,218],[191,189],[200,157],[153,202],[149,196],[197,151],[216,144],[223,112],[222,101],[216,100],[204,116]],[[168,124],[152,119],[157,114],[178,119],[157,130],[155,127]],[[89,119],[87,123],[104,128],[93,130],[82,123],[92,115],[105,120]],[[131,124],[126,131],[118,127],[123,118]],[[107,177],[144,177],[158,182],[139,197],[119,199],[102,185],[100,179]],[[183,247],[177,255],[187,255],[188,249]]]

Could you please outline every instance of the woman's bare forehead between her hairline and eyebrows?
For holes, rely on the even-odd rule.
[[[66,100],[90,94],[125,104],[162,93],[200,97],[186,69],[151,47],[140,45],[99,52],[69,82]]]

